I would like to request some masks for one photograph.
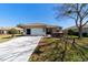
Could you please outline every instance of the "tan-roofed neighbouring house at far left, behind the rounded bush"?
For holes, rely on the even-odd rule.
[[[8,34],[10,29],[16,29],[19,32],[23,32],[23,29],[17,28],[17,26],[16,28],[14,26],[0,26],[0,34]]]

